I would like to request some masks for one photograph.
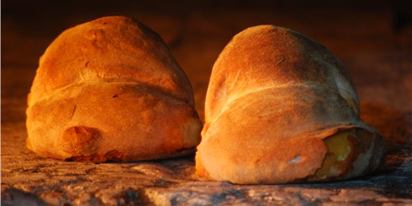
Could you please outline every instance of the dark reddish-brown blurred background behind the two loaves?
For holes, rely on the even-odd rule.
[[[363,102],[412,111],[408,1],[194,2],[1,1],[2,122],[25,118],[38,58],[60,32],[111,15],[133,16],[163,37],[192,82],[202,117],[218,54],[233,35],[260,24],[289,27],[328,47],[347,66]]]

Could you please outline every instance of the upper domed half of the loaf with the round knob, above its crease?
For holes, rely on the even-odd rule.
[[[73,82],[114,78],[162,87],[193,105],[190,82],[160,36],[126,16],[103,17],[65,30],[39,64],[30,102]]]

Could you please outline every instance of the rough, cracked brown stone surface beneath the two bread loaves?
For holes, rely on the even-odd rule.
[[[412,204],[412,146],[389,144],[385,167],[350,181],[233,185],[194,176],[192,157],[135,163],[76,163],[38,157],[25,127],[1,131],[2,205]]]

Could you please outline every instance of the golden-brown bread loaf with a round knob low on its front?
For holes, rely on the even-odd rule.
[[[158,34],[123,16],[62,32],[28,96],[27,147],[73,161],[194,152],[201,122],[187,76]]]

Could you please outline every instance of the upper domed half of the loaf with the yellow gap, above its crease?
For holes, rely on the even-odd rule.
[[[319,82],[358,108],[349,74],[323,45],[282,27],[250,27],[232,38],[214,64],[205,103],[206,122],[216,117],[223,104],[244,93]]]

